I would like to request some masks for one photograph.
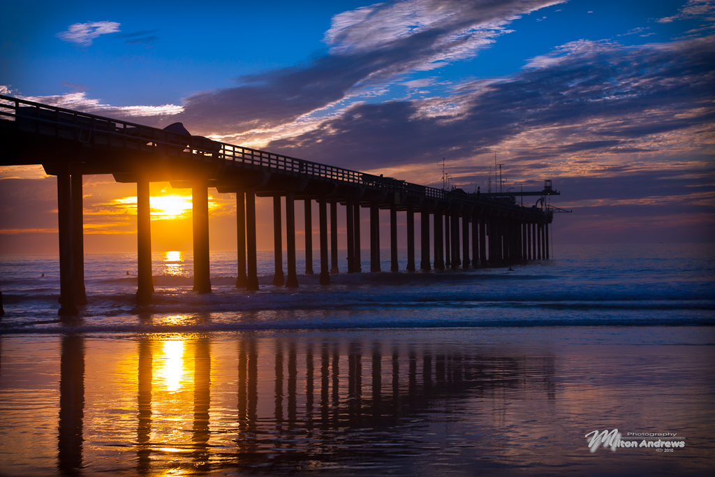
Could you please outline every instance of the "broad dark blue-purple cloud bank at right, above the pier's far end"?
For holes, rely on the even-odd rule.
[[[712,154],[715,36],[623,46],[578,41],[448,99],[358,104],[266,148],[352,169],[471,160],[508,150],[530,168],[637,154]],[[450,104],[450,107],[446,107]],[[660,167],[653,164],[651,167]]]

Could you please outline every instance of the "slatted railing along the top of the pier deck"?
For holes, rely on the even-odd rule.
[[[122,119],[103,117],[4,95],[0,95],[0,117],[6,119],[4,127],[78,142],[193,158],[217,163],[222,167],[261,169],[269,172],[280,171],[336,183],[347,182],[373,190],[398,192],[401,195],[439,202],[466,202],[469,205],[488,205],[504,210],[523,210],[523,207],[518,205],[485,197],[477,198],[475,195],[464,192],[446,191],[397,180],[393,177],[366,174],[343,167],[214,141],[202,136],[176,134]],[[9,124],[10,122],[14,124]]]

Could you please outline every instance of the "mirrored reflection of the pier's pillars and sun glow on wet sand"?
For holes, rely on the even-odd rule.
[[[221,383],[215,398],[212,340],[169,338],[137,343],[136,432],[127,437],[134,441],[139,473],[164,466],[320,468],[345,459],[417,456],[428,443],[410,435],[428,432],[424,415],[435,407],[506,398],[513,390],[546,399],[555,393],[548,355],[526,359],[369,339],[247,337],[236,341],[232,390]],[[84,338],[74,336],[62,338],[61,353],[61,383],[72,383],[60,387],[58,470],[64,473],[83,463],[84,360],[92,357],[85,356]],[[224,413],[212,420],[227,399],[235,403],[232,418]],[[401,436],[402,428],[410,432]]]

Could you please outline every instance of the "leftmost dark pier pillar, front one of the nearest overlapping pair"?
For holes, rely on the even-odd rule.
[[[77,315],[72,287],[72,194],[69,172],[57,174],[57,225],[59,226],[59,315]]]

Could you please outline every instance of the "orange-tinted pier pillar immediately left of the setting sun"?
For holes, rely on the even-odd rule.
[[[137,181],[137,303],[152,302],[152,217],[149,208],[149,181]]]

